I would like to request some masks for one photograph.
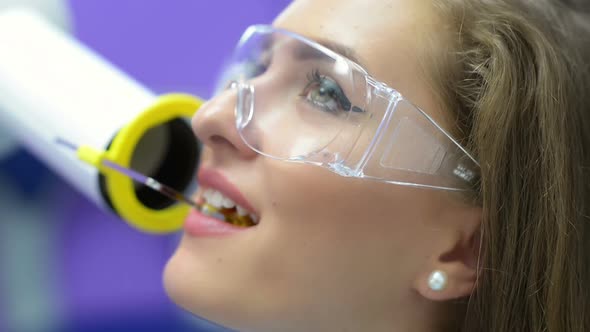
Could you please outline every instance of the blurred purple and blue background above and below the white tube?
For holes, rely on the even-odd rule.
[[[241,32],[287,0],[70,0],[74,33],[157,93],[209,97]],[[0,56],[1,57],[1,56]],[[177,237],[99,211],[26,151],[0,160],[0,331],[220,331],[166,297]]]

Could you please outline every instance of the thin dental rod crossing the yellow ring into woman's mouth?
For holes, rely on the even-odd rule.
[[[90,158],[80,157],[80,159],[92,166],[96,166],[95,162],[90,162],[89,159],[97,158],[97,155],[99,155],[100,153],[92,149],[91,147],[84,145],[78,146],[62,138],[57,138],[55,142],[77,153],[79,157],[91,156]],[[211,197],[211,194],[213,193],[211,189],[205,190],[205,194],[203,195],[204,197],[201,197],[200,199],[195,201],[178,192],[174,188],[167,186],[150,176],[144,175],[128,167],[119,165],[111,160],[108,160],[107,158],[100,158],[99,164],[100,166],[121,173],[135,180],[136,182],[143,184],[146,187],[165,195],[170,199],[173,199],[177,202],[188,204],[196,210],[198,210],[199,212],[215,217],[216,219],[241,227],[250,227],[258,224],[258,218],[253,214],[247,213],[247,211],[245,211],[241,206],[235,204],[228,204],[228,202],[226,201],[223,201],[223,204],[218,204],[220,202],[217,202],[217,200],[212,199]],[[222,194],[215,191],[213,196],[221,197]],[[223,200],[223,198],[221,199]]]

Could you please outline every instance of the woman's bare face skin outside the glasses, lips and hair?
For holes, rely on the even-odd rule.
[[[418,61],[421,38],[437,33],[428,3],[298,0],[274,25],[351,47],[371,75],[448,126]],[[235,97],[213,98],[193,127],[205,144],[202,166],[232,182],[260,224],[226,237],[184,236],[165,270],[171,298],[240,331],[441,330],[444,301],[475,284],[480,209],[448,192],[261,156],[236,131]],[[427,287],[437,269],[449,276],[442,292]]]

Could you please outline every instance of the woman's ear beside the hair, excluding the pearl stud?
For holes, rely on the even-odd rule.
[[[452,227],[457,231],[448,241],[442,241],[446,244],[431,256],[414,280],[414,289],[420,295],[432,301],[447,301],[473,292],[479,274],[481,215],[481,207],[470,207],[455,215],[458,218]],[[429,280],[435,272],[446,279],[440,290],[430,287]]]

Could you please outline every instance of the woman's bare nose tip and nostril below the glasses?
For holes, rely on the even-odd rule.
[[[235,88],[228,88],[204,103],[192,118],[193,131],[205,145],[217,151],[231,151],[241,158],[254,158],[252,150],[236,129]]]

